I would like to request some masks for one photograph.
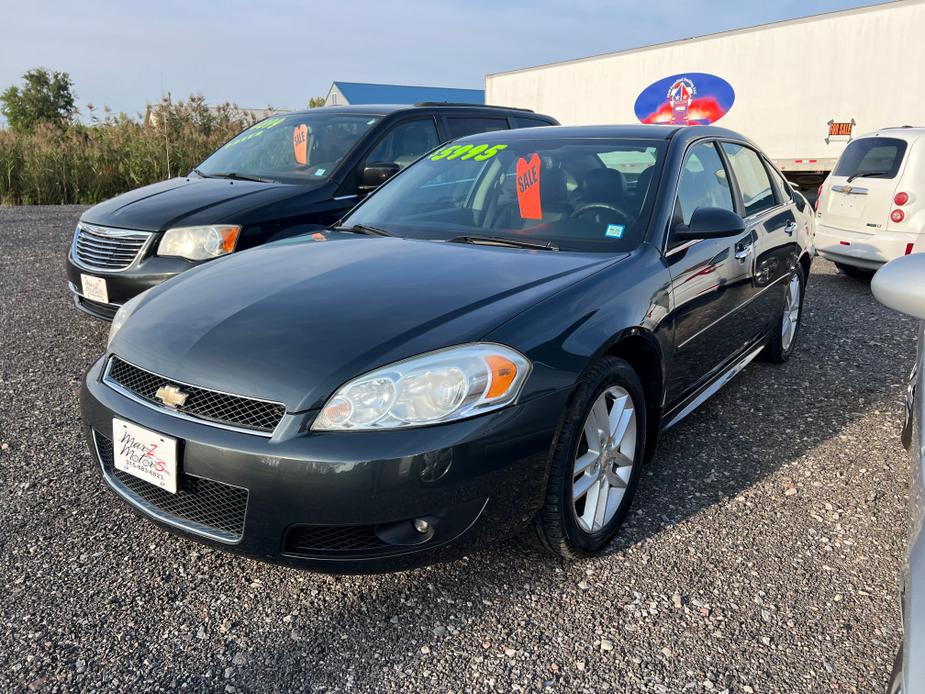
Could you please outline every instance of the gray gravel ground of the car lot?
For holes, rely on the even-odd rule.
[[[913,326],[817,261],[801,344],[663,437],[607,556],[515,541],[373,577],[176,538],[78,432],[106,326],[81,208],[0,209],[0,690],[879,692],[900,641]]]

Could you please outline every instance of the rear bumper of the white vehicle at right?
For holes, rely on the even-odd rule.
[[[876,270],[884,263],[906,255],[909,244],[916,251],[925,251],[925,234],[903,231],[878,231],[870,234],[835,229],[823,224],[816,226],[816,253],[826,260],[867,270]]]

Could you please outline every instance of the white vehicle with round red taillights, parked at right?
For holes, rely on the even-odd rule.
[[[850,275],[925,252],[925,128],[884,128],[845,148],[819,188],[816,252]]]

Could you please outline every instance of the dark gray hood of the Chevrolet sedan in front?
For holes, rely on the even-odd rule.
[[[152,289],[112,351],[182,383],[303,411],[371,369],[478,340],[616,260],[316,234],[207,263]]]

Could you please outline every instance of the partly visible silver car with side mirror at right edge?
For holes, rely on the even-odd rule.
[[[897,258],[883,266],[871,283],[874,296],[889,308],[925,321],[925,253]],[[919,324],[918,356],[909,381],[903,445],[912,454],[912,533],[903,585],[905,638],[897,655],[889,691],[925,692],[925,322]]]

